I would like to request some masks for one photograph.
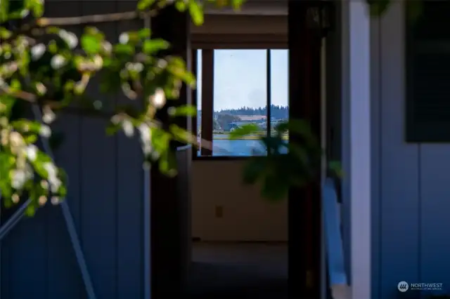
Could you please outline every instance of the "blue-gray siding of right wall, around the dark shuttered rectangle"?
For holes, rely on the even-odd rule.
[[[404,141],[404,29],[401,1],[373,20],[372,267],[377,299],[397,298],[399,281],[442,283],[450,292],[450,145]]]

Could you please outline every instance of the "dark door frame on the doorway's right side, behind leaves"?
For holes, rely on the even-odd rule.
[[[318,1],[288,4],[289,117],[307,119],[321,134],[321,36],[308,26]],[[295,136],[290,135],[295,141]],[[300,140],[298,140],[300,141]],[[288,285],[290,298],[321,296],[321,187],[293,188],[288,197]]]

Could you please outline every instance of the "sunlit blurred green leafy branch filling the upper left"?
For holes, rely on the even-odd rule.
[[[210,1],[240,6],[241,0]],[[176,174],[171,144],[198,145],[196,136],[176,124],[191,117],[195,107],[176,105],[181,86],[195,88],[186,62],[167,53],[170,44],[154,38],[150,29],[122,32],[112,44],[93,25],[101,22],[154,17],[167,6],[188,11],[196,25],[203,22],[202,4],[193,0],[141,0],[136,11],[74,18],[45,18],[39,0],[0,1],[0,190],[5,206],[30,197],[35,208],[67,194],[66,175],[37,146],[52,138],[51,123],[61,112],[110,119],[108,133],[139,134],[146,163],[166,175]],[[84,25],[81,36],[63,29]],[[122,93],[129,104],[113,107],[86,93],[93,78],[103,93]],[[42,122],[29,111],[37,106]],[[113,109],[111,109],[113,108]],[[113,112],[111,112],[113,111]],[[161,112],[168,115],[160,117]],[[203,147],[210,147],[205,140]]]

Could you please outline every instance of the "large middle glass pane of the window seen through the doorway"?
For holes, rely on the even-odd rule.
[[[243,124],[266,121],[266,50],[214,50],[213,156],[265,154],[258,135],[230,140]]]

